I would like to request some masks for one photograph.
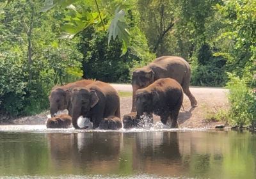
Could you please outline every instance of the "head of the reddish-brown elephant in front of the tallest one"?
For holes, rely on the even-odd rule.
[[[159,95],[156,91],[138,89],[136,92],[137,116],[140,117],[143,113],[152,113],[158,99]]]

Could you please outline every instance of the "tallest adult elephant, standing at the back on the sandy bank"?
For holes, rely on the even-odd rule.
[[[136,112],[136,91],[152,84],[157,79],[170,77],[182,86],[191,106],[197,105],[196,98],[189,91],[191,68],[188,62],[177,56],[162,56],[142,68],[134,70],[132,75],[132,112]]]

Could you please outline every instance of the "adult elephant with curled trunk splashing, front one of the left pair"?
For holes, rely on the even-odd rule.
[[[120,118],[120,98],[117,91],[106,82],[95,81],[84,88],[74,88],[71,93],[72,123],[79,129],[79,116],[90,118],[93,128],[108,116]]]

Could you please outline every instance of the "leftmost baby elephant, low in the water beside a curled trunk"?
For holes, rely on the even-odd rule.
[[[72,118],[68,114],[59,114],[53,118],[48,118],[46,122],[47,128],[68,128],[70,127]]]

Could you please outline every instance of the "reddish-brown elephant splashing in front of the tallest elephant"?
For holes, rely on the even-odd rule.
[[[177,118],[183,102],[183,91],[174,79],[158,79],[150,86],[136,91],[137,116],[154,113],[166,124],[170,119],[171,127],[178,127]]]

